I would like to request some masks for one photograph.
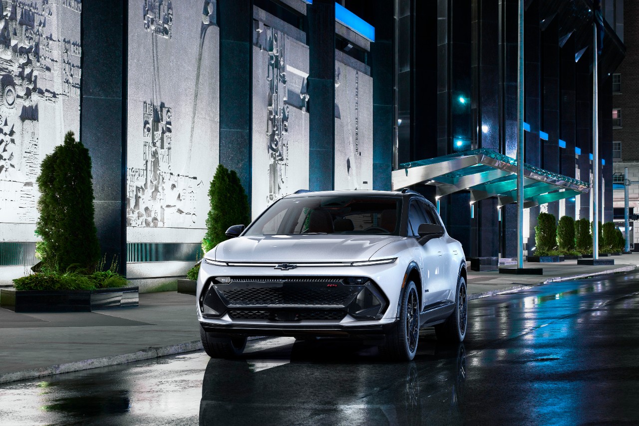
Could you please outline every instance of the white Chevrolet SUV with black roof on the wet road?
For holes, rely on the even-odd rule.
[[[299,191],[298,191],[299,192]],[[247,336],[378,339],[415,357],[419,329],[466,335],[466,260],[413,191],[296,193],[206,253],[197,278],[204,350],[242,353]]]

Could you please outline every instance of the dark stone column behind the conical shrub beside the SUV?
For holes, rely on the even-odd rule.
[[[220,164],[235,170],[244,191],[252,189],[253,1],[219,0]]]

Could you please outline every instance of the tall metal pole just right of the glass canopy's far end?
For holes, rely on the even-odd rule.
[[[599,75],[597,24],[592,21],[592,258],[599,258]]]

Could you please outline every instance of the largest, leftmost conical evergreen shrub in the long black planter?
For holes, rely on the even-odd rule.
[[[91,179],[89,150],[68,132],[63,145],[45,157],[36,181],[36,233],[43,240],[38,253],[45,267],[66,271],[74,265],[93,271],[100,260]]]

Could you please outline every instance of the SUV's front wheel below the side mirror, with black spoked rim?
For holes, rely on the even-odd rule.
[[[406,283],[399,308],[399,319],[387,333],[380,352],[393,361],[412,361],[419,343],[419,296],[413,281]]]

